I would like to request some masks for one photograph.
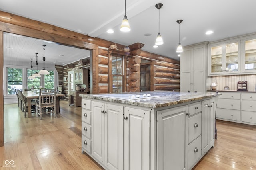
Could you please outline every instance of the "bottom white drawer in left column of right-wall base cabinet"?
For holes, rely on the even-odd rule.
[[[240,110],[216,109],[216,117],[222,119],[240,121]]]

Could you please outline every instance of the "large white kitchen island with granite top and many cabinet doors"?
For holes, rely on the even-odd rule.
[[[110,170],[187,170],[214,147],[216,93],[80,94],[82,153]]]

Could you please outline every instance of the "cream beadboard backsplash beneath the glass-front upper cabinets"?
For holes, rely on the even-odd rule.
[[[211,83],[218,82],[216,90],[224,90],[224,86],[228,86],[229,90],[237,90],[238,81],[247,81],[248,91],[255,92],[256,74],[236,76],[211,76]]]

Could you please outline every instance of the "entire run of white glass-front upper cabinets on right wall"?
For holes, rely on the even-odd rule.
[[[247,35],[208,45],[208,75],[256,72],[256,36]]]

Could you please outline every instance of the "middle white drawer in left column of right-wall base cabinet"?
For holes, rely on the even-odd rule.
[[[241,108],[240,100],[238,100],[238,99],[218,99],[217,108],[240,110],[240,108]]]

